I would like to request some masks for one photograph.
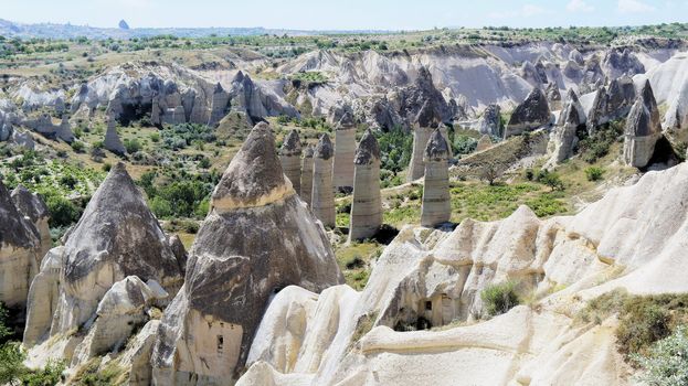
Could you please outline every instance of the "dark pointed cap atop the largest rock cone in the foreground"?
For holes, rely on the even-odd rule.
[[[260,122],[251,130],[218,183],[212,195],[213,206],[225,200],[233,202],[229,206],[257,205],[261,197],[284,185],[275,136],[266,122]]]

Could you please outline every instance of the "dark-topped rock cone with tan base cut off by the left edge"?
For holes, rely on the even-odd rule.
[[[0,179],[0,301],[23,308],[42,258],[40,234],[14,206]]]

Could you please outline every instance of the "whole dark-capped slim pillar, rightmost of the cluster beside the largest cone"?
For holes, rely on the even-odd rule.
[[[356,170],[349,242],[372,237],[382,225],[380,148],[370,129],[361,138],[353,164]]]

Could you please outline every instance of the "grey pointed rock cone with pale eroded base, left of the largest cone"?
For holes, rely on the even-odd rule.
[[[124,164],[113,167],[31,282],[23,337],[30,363],[78,366],[117,352],[181,287],[186,253],[178,243],[162,232]]]

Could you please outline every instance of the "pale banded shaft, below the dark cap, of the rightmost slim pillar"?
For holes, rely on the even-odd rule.
[[[449,171],[447,161],[425,163],[425,187],[421,207],[421,225],[433,227],[449,221]]]

